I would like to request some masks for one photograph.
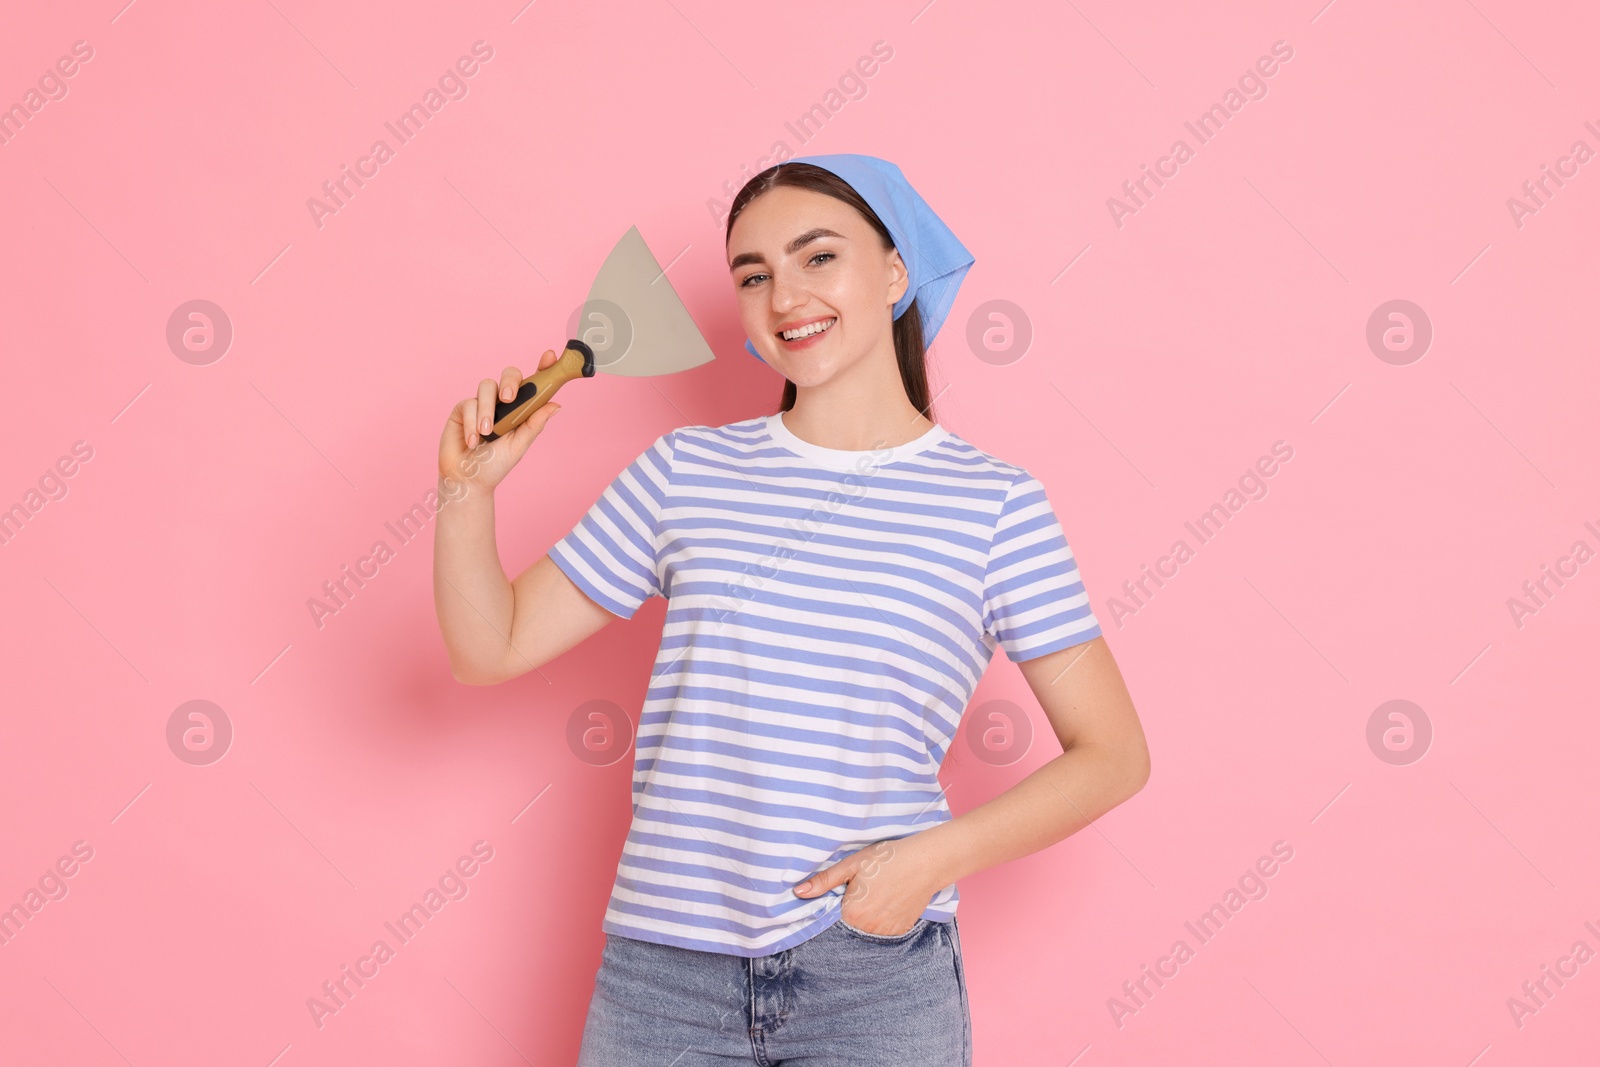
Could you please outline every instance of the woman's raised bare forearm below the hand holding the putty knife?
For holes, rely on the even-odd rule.
[[[494,542],[494,493],[440,478],[438,496],[445,501],[434,522],[438,630],[456,678],[493,683],[499,680],[515,603]]]

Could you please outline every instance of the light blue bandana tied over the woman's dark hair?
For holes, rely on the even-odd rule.
[[[838,174],[883,221],[910,275],[906,293],[894,301],[894,318],[917,301],[923,344],[933,344],[933,336],[950,314],[962,278],[973,266],[973,254],[912,189],[894,163],[875,155],[854,154],[802,155],[787,162],[811,163]],[[744,350],[762,358],[749,339],[744,341]]]

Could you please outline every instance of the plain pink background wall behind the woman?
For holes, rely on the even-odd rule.
[[[1507,206],[1600,149],[1592,8],[122,3],[14,5],[0,40],[3,104],[93,48],[0,146],[0,506],[93,450],[0,545],[0,905],[93,848],[0,945],[0,1061],[573,1061],[629,761],[578,760],[566,723],[637,713],[664,603],[472,688],[430,530],[322,629],[306,601],[397,545],[450,406],[558,346],[632,224],[718,358],[568,387],[499,493],[507,571],[656,435],[774,410],[707,202],[778,141],[898,162],[976,254],[936,414],[1045,482],[1150,741],[1130,803],[962,883],[976,1062],[1600,1048],[1600,963],[1520,1027],[1507,1008],[1600,949],[1600,563],[1520,627],[1507,608],[1600,547],[1600,162],[1520,227]],[[469,94],[318,229],[306,200],[477,40]],[[1267,96],[1198,144],[1184,122],[1280,40]],[[874,42],[893,56],[802,144],[786,123]],[[1107,198],[1178,138],[1194,158],[1118,227]],[[165,339],[192,299],[234,326],[210,365]],[[1434,330],[1408,365],[1366,344],[1392,299]],[[968,344],[987,301],[1026,354]],[[1267,496],[1118,627],[1122,584],[1280,440]],[[192,699],[234,728],[208,766],[166,741]],[[1056,753],[1003,656],[992,699],[1040,741],[992,766],[968,721],[957,813]],[[1368,745],[1392,699],[1432,728],[1408,765]],[[318,1027],[307,998],[475,841],[469,894]],[[1184,923],[1274,841],[1267,896],[1198,944]],[[1178,939],[1194,958],[1118,1025],[1109,998]]]

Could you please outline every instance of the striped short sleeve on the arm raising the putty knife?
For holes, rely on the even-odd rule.
[[[584,595],[624,619],[664,595],[656,523],[672,478],[672,434],[658,437],[549,552]]]

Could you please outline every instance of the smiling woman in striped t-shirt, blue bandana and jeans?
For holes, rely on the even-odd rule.
[[[579,1064],[970,1064],[957,880],[1138,792],[1144,736],[1043,486],[933,419],[973,258],[899,168],[779,163],[726,250],[781,410],[662,434],[515,582],[491,490],[560,405],[488,454],[518,370],[456,405],[440,472],[483,491],[437,523],[451,669],[501,681],[667,598]],[[955,819],[938,771],[997,646],[1062,755]]]

